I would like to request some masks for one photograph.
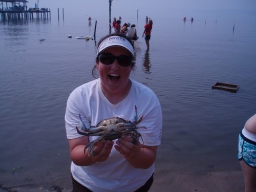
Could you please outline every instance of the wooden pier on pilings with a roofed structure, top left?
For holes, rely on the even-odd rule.
[[[51,19],[51,9],[29,8],[26,0],[0,0],[0,14],[3,22],[36,18]],[[5,6],[4,6],[5,5]],[[37,5],[38,6],[38,5]]]

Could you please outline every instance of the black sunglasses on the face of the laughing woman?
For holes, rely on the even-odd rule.
[[[133,63],[133,57],[131,56],[127,56],[127,55],[115,56],[110,53],[106,53],[106,54],[101,53],[98,55],[98,59],[104,65],[111,65],[116,59],[118,64],[122,67],[129,67]]]

